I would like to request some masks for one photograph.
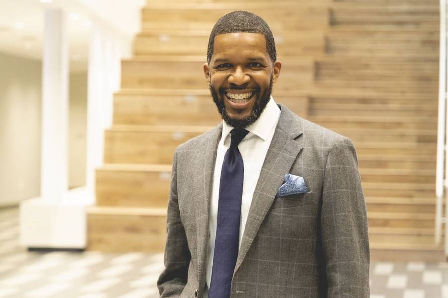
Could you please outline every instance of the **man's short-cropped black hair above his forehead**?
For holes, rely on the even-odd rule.
[[[207,62],[210,63],[213,54],[215,36],[226,33],[249,32],[261,33],[266,39],[266,49],[272,62],[277,60],[274,36],[268,24],[258,15],[243,10],[236,10],[221,17],[213,26],[207,47]]]

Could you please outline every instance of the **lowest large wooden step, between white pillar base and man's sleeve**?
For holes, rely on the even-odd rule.
[[[87,208],[87,250],[163,252],[166,208]]]

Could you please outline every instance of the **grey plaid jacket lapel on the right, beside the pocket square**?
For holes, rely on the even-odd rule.
[[[234,272],[244,260],[284,181],[285,174],[289,172],[303,147],[301,138],[295,140],[302,134],[301,119],[285,106],[279,105],[279,107],[280,118],[255,188]]]

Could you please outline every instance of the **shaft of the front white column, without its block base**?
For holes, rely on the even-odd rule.
[[[68,189],[68,47],[65,15],[44,15],[41,198],[61,201]]]

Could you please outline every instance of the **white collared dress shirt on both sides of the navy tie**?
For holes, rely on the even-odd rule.
[[[241,223],[239,225],[239,247],[244,234],[250,204],[253,193],[260,176],[261,168],[266,158],[266,153],[274,136],[280,117],[280,109],[271,97],[260,118],[246,127],[249,131],[247,136],[239,143],[238,149],[244,162],[244,182],[241,200]],[[233,127],[228,126],[223,121],[223,132],[218,143],[215,171],[213,174],[212,199],[210,202],[210,238],[207,254],[207,289],[210,287],[212,278],[213,253],[215,251],[216,221],[218,215],[218,196],[220,188],[221,167],[223,166],[224,155],[230,147],[230,131]],[[204,292],[203,298],[207,298],[208,290]]]

